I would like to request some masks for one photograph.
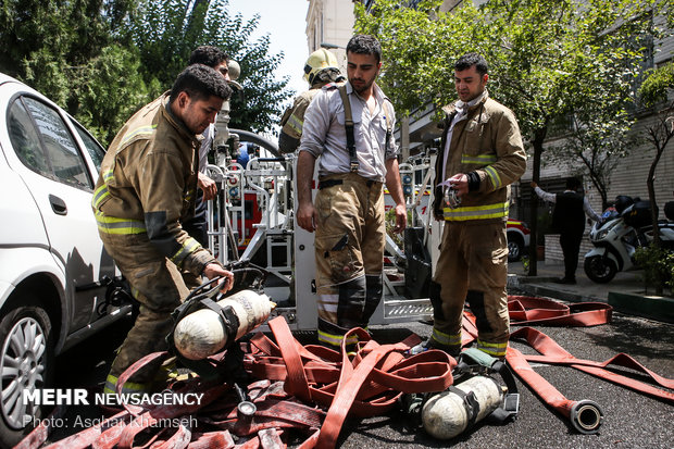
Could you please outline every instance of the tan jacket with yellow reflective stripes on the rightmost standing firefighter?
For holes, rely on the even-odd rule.
[[[485,90],[482,101],[467,110],[467,119],[454,125],[445,177],[457,173],[470,174],[470,191],[461,197],[461,204],[451,209],[445,204],[442,161],[446,140],[454,117],[454,104],[444,108],[447,116],[436,160],[435,200],[436,219],[460,223],[490,223],[508,220],[510,184],[520,179],[526,170],[526,153],[514,114],[489,98]]]

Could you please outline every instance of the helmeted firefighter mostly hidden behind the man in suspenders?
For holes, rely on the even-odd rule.
[[[328,83],[340,83],[345,78],[339,73],[335,54],[325,49],[314,51],[304,64],[304,80],[311,87],[305,92],[297,96],[295,102],[280,119],[280,135],[278,136],[278,149],[283,153],[291,153],[300,145],[304,112],[311,100]]]

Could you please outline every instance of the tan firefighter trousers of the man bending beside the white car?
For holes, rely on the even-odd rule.
[[[134,298],[140,303],[134,327],[110,369],[105,392],[112,392],[127,367],[149,353],[166,350],[165,338],[173,324],[171,312],[187,297],[189,289],[178,267],[154,249],[147,234],[99,234],[105,250],[128,280]],[[124,391],[151,389],[159,367],[157,364],[136,373],[125,384]]]

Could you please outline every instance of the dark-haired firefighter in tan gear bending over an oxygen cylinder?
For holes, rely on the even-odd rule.
[[[187,296],[182,271],[209,278],[233,274],[183,230],[194,215],[203,133],[232,90],[211,67],[196,64],[178,75],[168,95],[126,122],[103,162],[92,207],[99,235],[140,302],[105,383],[114,392],[118,376],[134,362],[165,350],[171,312]],[[124,385],[125,392],[151,390],[159,366],[149,366]]]

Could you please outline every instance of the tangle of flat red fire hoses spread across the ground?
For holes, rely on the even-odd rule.
[[[594,326],[611,320],[611,307],[603,303],[576,303],[564,305],[557,301],[531,297],[510,297],[509,310],[512,325],[546,324]],[[378,345],[370,334],[360,328],[351,329],[347,337],[359,338],[355,356],[349,356],[322,346],[302,346],[291,335],[285,319],[270,321],[276,341],[259,333],[246,346],[244,366],[255,378],[265,379],[248,386],[248,397],[257,411],[241,415],[239,400],[232,386],[211,385],[199,377],[175,383],[175,392],[203,392],[198,407],[159,406],[142,409],[126,406],[126,410],[55,442],[50,448],[133,448],[143,434],[143,445],[155,448],[259,448],[282,447],[284,429],[294,428],[309,435],[301,448],[333,448],[341,425],[348,415],[373,416],[397,406],[403,392],[445,390],[452,383],[451,371],[455,361],[442,351],[428,350],[409,357],[407,350],[421,340],[413,335],[396,345]],[[477,336],[475,317],[466,312],[463,320],[463,342],[470,344]],[[539,352],[524,356],[508,348],[507,361],[538,396],[550,407],[571,420],[581,433],[597,432],[602,420],[598,404],[589,400],[566,399],[542,376],[535,373],[529,362],[566,365],[595,376],[633,388],[670,402],[674,394],[622,376],[607,370],[611,365],[636,370],[649,375],[664,388],[674,389],[674,381],[657,375],[626,354],[617,354],[606,362],[579,360],[557,345],[550,337],[532,328],[522,327],[512,333],[511,339],[523,340]],[[347,340],[347,338],[345,338]],[[222,354],[221,354],[222,356]],[[146,363],[163,360],[167,354],[149,354],[132,365],[122,376],[120,385]],[[212,358],[216,361],[216,358]],[[120,392],[120,391],[117,391]],[[294,399],[298,398],[302,402]],[[327,409],[327,413],[319,408]],[[168,427],[154,426],[162,419],[195,417]],[[202,427],[203,426],[203,427]],[[214,432],[203,432],[215,429]],[[233,435],[239,438],[234,444]],[[47,429],[36,428],[20,445],[23,449],[37,448],[47,437]],[[150,442],[147,442],[147,439]]]

